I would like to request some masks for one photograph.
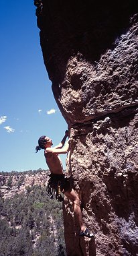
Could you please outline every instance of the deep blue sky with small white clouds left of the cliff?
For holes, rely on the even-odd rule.
[[[38,138],[67,129],[44,66],[33,0],[0,1],[0,171],[48,169]],[[65,166],[65,157],[62,161]]]

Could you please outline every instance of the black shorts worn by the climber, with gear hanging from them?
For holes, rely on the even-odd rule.
[[[48,187],[53,189],[57,189],[58,185],[60,185],[60,191],[66,192],[71,189],[70,181],[65,177],[65,174],[50,174],[50,179],[48,181]]]

